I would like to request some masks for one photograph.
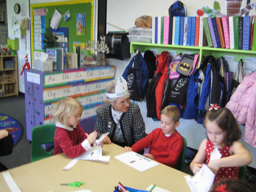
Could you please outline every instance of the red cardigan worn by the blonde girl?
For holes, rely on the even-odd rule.
[[[86,138],[87,136],[79,124],[73,131],[56,127],[53,156],[64,152],[66,156],[75,158],[84,154],[86,150],[81,143]]]

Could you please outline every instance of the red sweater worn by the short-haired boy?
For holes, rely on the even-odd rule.
[[[174,168],[183,149],[183,144],[183,137],[177,130],[167,137],[160,128],[157,128],[136,142],[132,148],[134,152],[138,152],[150,146],[149,153],[155,157],[154,160]]]

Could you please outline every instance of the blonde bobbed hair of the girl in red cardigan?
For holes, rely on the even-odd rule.
[[[61,99],[53,112],[53,117],[55,121],[61,122],[66,127],[70,128],[70,125],[68,124],[68,118],[77,110],[80,109],[80,117],[83,113],[83,106],[74,98],[66,97],[64,99]]]

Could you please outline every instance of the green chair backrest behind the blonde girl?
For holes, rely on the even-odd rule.
[[[31,161],[37,161],[53,154],[53,150],[47,152],[42,144],[54,143],[55,124],[43,124],[32,130]]]

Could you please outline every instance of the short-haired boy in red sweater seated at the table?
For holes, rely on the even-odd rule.
[[[176,131],[180,125],[180,110],[170,105],[165,107],[160,114],[161,128],[153,130],[132,147],[125,146],[124,151],[138,152],[150,146],[149,154],[144,154],[144,156],[174,168],[184,144],[183,137]]]

